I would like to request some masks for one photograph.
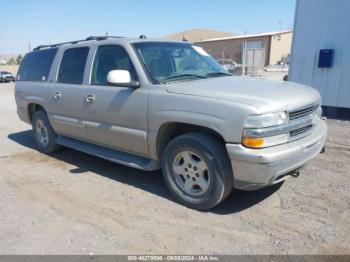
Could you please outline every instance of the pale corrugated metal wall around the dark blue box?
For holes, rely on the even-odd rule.
[[[332,68],[318,68],[320,49],[335,49]],[[350,108],[350,0],[298,0],[290,81],[321,93],[323,105]]]

